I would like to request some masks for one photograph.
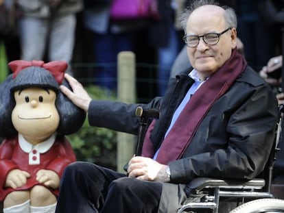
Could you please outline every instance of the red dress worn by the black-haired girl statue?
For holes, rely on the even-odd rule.
[[[51,144],[49,143],[47,148],[46,146],[45,148],[43,148],[43,146],[38,148],[38,150],[41,151],[29,145],[29,153],[27,153],[26,149],[23,151],[23,145],[20,145],[18,138],[19,137],[16,136],[15,138],[5,139],[0,145],[0,201],[5,199],[6,195],[14,190],[29,190],[33,186],[43,185],[36,181],[36,173],[38,170],[52,170],[61,177],[64,168],[76,160],[75,153],[69,141],[63,136],[56,137]],[[31,163],[32,161],[35,163]],[[13,189],[5,187],[5,180],[8,173],[16,168],[27,171],[31,177],[29,177],[27,183],[20,188]],[[54,190],[49,188],[49,190],[53,192],[54,195],[58,196],[59,189]]]

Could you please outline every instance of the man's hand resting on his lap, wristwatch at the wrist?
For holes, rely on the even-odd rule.
[[[128,175],[147,181],[169,182],[166,170],[167,165],[159,164],[151,158],[137,156],[129,162]]]

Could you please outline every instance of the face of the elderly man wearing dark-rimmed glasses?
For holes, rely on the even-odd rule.
[[[211,32],[219,34],[226,29],[224,10],[215,5],[202,6],[189,16],[187,21],[187,36],[203,36]],[[200,79],[204,80],[215,73],[230,58],[232,49],[236,47],[237,33],[235,28],[220,36],[216,45],[206,45],[200,38],[196,47],[187,47],[187,55],[191,66],[195,68]]]

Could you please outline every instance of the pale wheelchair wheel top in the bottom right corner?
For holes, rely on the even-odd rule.
[[[281,199],[256,199],[239,205],[230,213],[276,213],[284,212],[284,200]]]

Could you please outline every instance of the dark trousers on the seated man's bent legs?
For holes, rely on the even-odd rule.
[[[88,162],[74,162],[62,175],[57,213],[156,213],[160,182],[126,177]]]

